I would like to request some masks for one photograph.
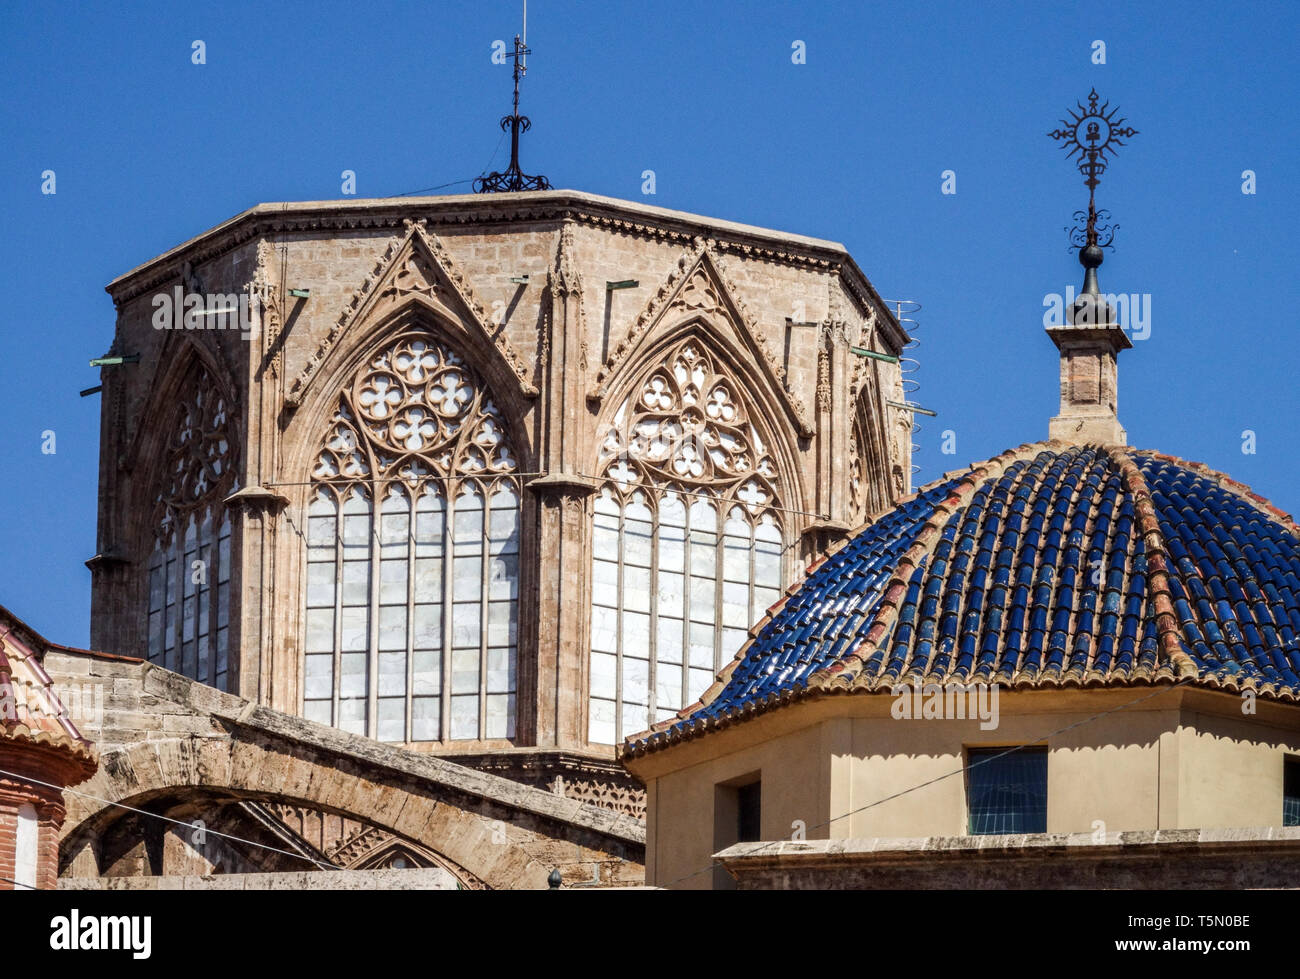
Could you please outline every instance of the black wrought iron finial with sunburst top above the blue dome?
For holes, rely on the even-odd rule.
[[[1101,265],[1105,252],[1102,248],[1114,248],[1117,224],[1109,224],[1110,212],[1097,209],[1097,185],[1101,183],[1101,174],[1106,172],[1110,157],[1118,147],[1124,146],[1124,140],[1138,135],[1138,130],[1126,126],[1127,120],[1118,116],[1119,107],[1110,108],[1110,103],[1101,101],[1097,90],[1088,92],[1088,105],[1076,101],[1075,109],[1066,109],[1069,120],[1061,120],[1061,129],[1054,129],[1048,135],[1061,143],[1066,151],[1066,159],[1075,160],[1079,173],[1083,174],[1084,186],[1088,187],[1088,209],[1075,211],[1075,226],[1067,228],[1070,250],[1079,251],[1079,264],[1086,269],[1084,293],[1097,293],[1097,268]],[[1106,222],[1106,224],[1104,224]]]

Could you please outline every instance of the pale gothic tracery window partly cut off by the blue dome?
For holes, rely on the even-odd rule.
[[[676,346],[601,449],[589,740],[616,744],[693,703],[780,595],[776,467],[734,381]]]

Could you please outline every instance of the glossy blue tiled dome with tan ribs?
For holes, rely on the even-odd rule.
[[[1199,463],[1043,442],[931,484],[827,554],[699,703],[627,751],[898,683],[1178,679],[1300,701],[1300,530]]]

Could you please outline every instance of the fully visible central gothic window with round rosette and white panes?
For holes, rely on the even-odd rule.
[[[516,473],[500,411],[442,342],[407,333],[358,372],[312,472],[306,718],[515,736]]]

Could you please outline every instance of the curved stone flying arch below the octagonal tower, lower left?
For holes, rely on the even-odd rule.
[[[351,816],[410,841],[412,849],[452,872],[460,868],[458,876],[471,887],[481,881],[494,889],[545,888],[550,871],[572,859],[575,844],[602,855],[611,849],[610,839],[599,831],[566,826],[537,813],[536,806],[528,813],[526,806],[511,805],[510,798],[491,790],[474,790],[473,783],[491,776],[469,772],[460,787],[412,780],[360,758],[264,732],[135,742],[105,753],[100,761],[95,777],[68,793],[60,848],[65,875],[81,872],[82,852],[122,816],[125,810],[112,803],[140,809],[186,793],[274,801]],[[564,802],[569,801],[556,800]]]

